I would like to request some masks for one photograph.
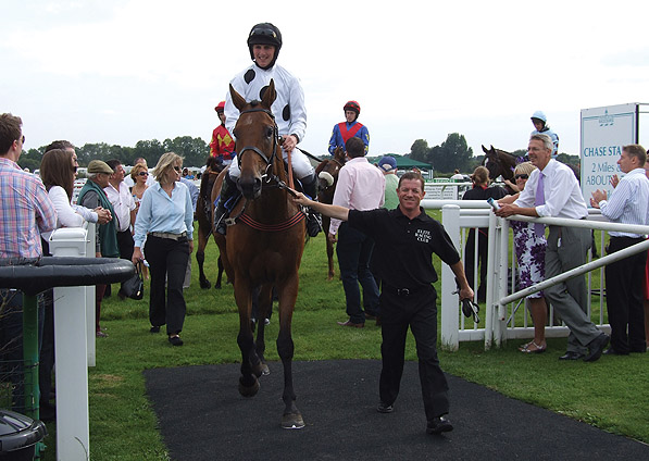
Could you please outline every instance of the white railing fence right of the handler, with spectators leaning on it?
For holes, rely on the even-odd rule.
[[[461,341],[483,340],[485,349],[491,346],[500,346],[507,339],[512,338],[533,338],[534,326],[528,322],[527,308],[524,308],[523,325],[517,326],[515,312],[519,303],[525,306],[524,298],[533,292],[547,288],[550,285],[564,282],[567,278],[581,276],[588,273],[589,292],[598,292],[598,320],[595,323],[603,331],[609,331],[609,325],[604,324],[604,302],[603,302],[603,266],[611,262],[626,258],[631,253],[644,251],[649,247],[649,241],[641,242],[624,251],[620,251],[596,261],[590,261],[582,267],[574,269],[565,274],[561,274],[552,279],[545,281],[542,284],[529,287],[527,289],[510,294],[509,286],[515,287],[515,253],[513,244],[510,245],[510,233],[508,220],[497,217],[490,211],[490,207],[482,200],[423,200],[422,207],[425,209],[441,209],[442,224],[455,245],[458,251],[462,254],[466,245],[466,229],[484,227],[489,229],[488,237],[488,258],[487,258],[487,281],[486,281],[486,307],[480,312],[484,320],[484,326],[475,324],[472,320],[465,319],[460,312],[460,303],[455,291],[455,281],[452,271],[442,264],[441,270],[441,346],[447,350],[458,350]],[[512,219],[527,222],[539,222],[544,224],[553,224],[562,226],[578,226],[600,230],[627,230],[638,234],[649,234],[649,226],[628,226],[607,222],[599,210],[591,210],[588,220],[562,220],[562,219],[532,219],[526,216],[512,216]],[[604,233],[601,233],[598,244],[600,254],[603,253]],[[471,245],[471,244],[470,244]],[[479,274],[477,271],[477,233],[474,241],[475,259],[474,267],[470,270],[474,273],[474,290],[477,294],[479,285]],[[590,258],[589,258],[590,259]],[[464,258],[463,258],[464,262]],[[600,270],[600,286],[594,290],[591,271]],[[477,296],[477,295],[476,295]],[[519,303],[516,303],[519,301]],[[591,314],[590,297],[588,301],[588,313]],[[597,311],[596,311],[597,312]],[[546,336],[564,337],[569,329],[563,325],[553,325],[552,309],[550,309],[550,322],[546,326]]]

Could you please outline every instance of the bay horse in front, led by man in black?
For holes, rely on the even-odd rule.
[[[239,393],[254,396],[264,363],[264,322],[258,322],[257,341],[251,325],[252,291],[260,287],[259,317],[272,309],[272,288],[279,299],[277,353],[284,366],[285,403],[282,427],[301,428],[304,421],[296,407],[292,384],[294,341],[291,320],[298,297],[298,269],[305,240],[305,214],[289,197],[287,173],[271,105],[277,94],[271,80],[261,101],[246,102],[230,85],[229,92],[240,116],[234,129],[241,171],[237,187],[244,200],[230,213],[227,237],[215,235],[224,256],[225,271],[234,284],[239,310],[237,344],[241,350]],[[220,179],[223,179],[224,172]],[[212,194],[214,197],[214,191]]]

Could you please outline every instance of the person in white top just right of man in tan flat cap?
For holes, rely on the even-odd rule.
[[[120,247],[120,258],[130,261],[133,259],[133,232],[132,225],[135,224],[135,200],[124,183],[126,172],[122,163],[116,160],[109,160],[107,165],[113,170],[109,177],[109,185],[103,188],[113,210],[115,211],[115,226],[117,229],[117,246]],[[126,296],[122,288],[118,292],[120,299],[124,300]]]

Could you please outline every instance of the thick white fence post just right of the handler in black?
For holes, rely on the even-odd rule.
[[[460,207],[447,204],[441,208],[441,222],[460,252]],[[446,265],[441,265],[441,347],[455,351],[460,346],[460,309],[455,290],[455,275]]]

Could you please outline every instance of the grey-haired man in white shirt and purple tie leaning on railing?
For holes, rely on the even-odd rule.
[[[503,204],[496,214],[501,217],[522,214],[585,220],[588,209],[579,184],[570,167],[552,160],[552,139],[548,135],[532,135],[527,154],[538,170],[532,172],[519,199],[512,204]],[[590,229],[549,227],[546,278],[585,264],[591,242]],[[584,359],[586,362],[599,359],[609,344],[609,336],[595,326],[586,312],[588,290],[585,276],[557,284],[544,292],[570,328],[566,352],[559,359]]]

